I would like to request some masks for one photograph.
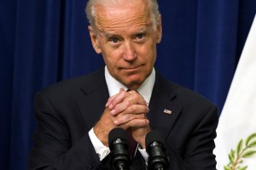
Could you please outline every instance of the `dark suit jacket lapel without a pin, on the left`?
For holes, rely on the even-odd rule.
[[[96,71],[87,80],[82,87],[84,98],[79,99],[77,104],[87,129],[90,130],[102,116],[109,94],[104,69]]]

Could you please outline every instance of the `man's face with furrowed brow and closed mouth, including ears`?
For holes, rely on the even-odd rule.
[[[127,3],[128,2],[128,3]],[[95,34],[89,26],[96,53],[102,53],[109,73],[128,88],[137,89],[150,75],[161,39],[161,23],[154,30],[144,1],[96,5]]]

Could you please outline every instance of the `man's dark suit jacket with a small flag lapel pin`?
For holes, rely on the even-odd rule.
[[[28,159],[29,169],[109,169],[99,161],[88,132],[108,100],[104,70],[58,82],[35,96],[38,127]],[[164,110],[172,114],[164,113]],[[150,127],[166,139],[170,169],[216,169],[213,139],[218,111],[207,99],[166,81],[159,73],[149,103]],[[131,169],[145,169],[140,153]]]

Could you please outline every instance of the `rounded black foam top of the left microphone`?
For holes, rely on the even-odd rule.
[[[112,144],[113,141],[115,141],[116,139],[121,139],[121,140],[125,141],[126,144],[128,144],[127,134],[125,133],[125,130],[120,128],[120,127],[113,128],[109,132],[109,134],[108,134],[108,144]]]

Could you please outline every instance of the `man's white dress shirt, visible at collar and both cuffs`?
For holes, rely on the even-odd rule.
[[[127,87],[125,87],[124,84],[118,82],[109,74],[107,66],[105,66],[105,79],[108,85],[109,96],[118,94],[120,88],[124,88],[125,90],[127,90]],[[137,92],[141,94],[143,98],[146,100],[147,105],[149,104],[151,94],[154,88],[154,81],[155,81],[155,71],[153,68],[153,71],[151,72],[150,76],[143,82],[141,87],[137,89]],[[104,144],[102,144],[101,140],[99,140],[96,137],[96,134],[93,131],[93,127],[89,131],[89,136],[90,136],[90,141],[93,144],[94,149],[96,150],[96,153],[100,158],[100,161],[102,161],[110,153],[109,148]],[[139,147],[137,148],[142,154],[144,160],[148,162],[148,153],[146,152],[146,150],[140,149]]]

